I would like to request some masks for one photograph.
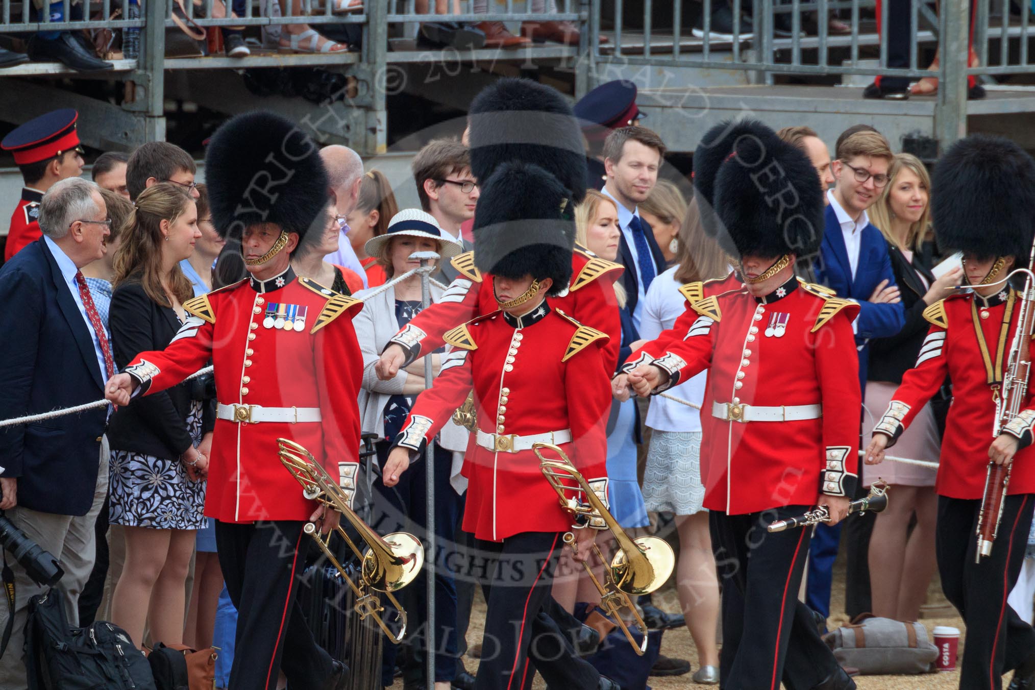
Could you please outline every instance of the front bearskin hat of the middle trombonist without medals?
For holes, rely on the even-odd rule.
[[[574,200],[533,163],[504,162],[481,185],[474,213],[474,263],[506,278],[552,278],[551,295],[571,280]]]

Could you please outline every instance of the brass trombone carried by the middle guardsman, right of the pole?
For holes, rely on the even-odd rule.
[[[542,450],[548,449],[558,455],[559,459],[550,459],[542,456]],[[589,573],[593,586],[600,593],[600,608],[610,616],[621,627],[625,633],[625,638],[629,640],[632,650],[640,656],[647,651],[647,624],[637,610],[635,605],[629,599],[629,595],[650,594],[654,590],[664,584],[672,574],[672,569],[676,565],[676,557],[672,546],[658,537],[637,537],[631,539],[625,531],[618,524],[614,516],[604,507],[603,502],[593,492],[589,482],[582,473],[575,469],[564,451],[549,443],[537,443],[532,446],[536,457],[539,458],[539,470],[545,476],[546,481],[557,491],[561,506],[571,513],[572,516],[580,515],[586,518],[601,517],[608,529],[618,542],[618,552],[609,564],[600,548],[593,544],[593,551],[596,558],[603,563],[604,576],[601,583],[593,574],[593,569],[588,563],[583,563],[586,572]],[[572,482],[574,483],[572,485]],[[586,504],[580,503],[576,499],[565,496],[565,491],[582,491],[586,494]],[[593,528],[586,527],[590,530]],[[568,532],[564,535],[564,543],[571,546],[572,551],[576,551],[575,537]],[[632,616],[632,622],[637,629],[643,634],[643,639],[637,643],[629,631],[628,625],[622,619],[621,611],[627,608]]]

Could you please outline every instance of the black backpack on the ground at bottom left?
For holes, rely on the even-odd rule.
[[[63,599],[52,588],[29,600],[30,690],[156,690],[151,666],[125,630],[105,621],[69,628]]]

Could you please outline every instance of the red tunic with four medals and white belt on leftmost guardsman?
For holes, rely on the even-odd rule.
[[[212,359],[220,415],[205,514],[227,522],[308,519],[316,502],[302,496],[280,463],[278,438],[304,446],[343,488],[354,489],[362,356],[352,317],[362,302],[295,279],[289,269],[265,282],[244,280],[196,297],[183,307],[190,317],[169,347],[141,353],[126,371],[142,382],[146,395],[178,384]],[[261,408],[294,408],[320,419],[255,421]],[[244,421],[234,421],[235,413]]]

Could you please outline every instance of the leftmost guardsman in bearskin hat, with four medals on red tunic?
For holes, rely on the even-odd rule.
[[[352,327],[359,300],[291,269],[328,222],[327,175],[316,144],[268,113],[219,128],[206,156],[212,220],[241,242],[249,277],[188,300],[188,318],[165,351],[139,354],[106,394],[127,404],[215,367],[218,412],[205,497],[219,565],[239,611],[229,690],[339,690],[348,668],[319,648],[296,597],[310,540],[339,514],[318,507],[277,459],[277,439],[304,446],[345,489],[355,490],[362,355]]]

